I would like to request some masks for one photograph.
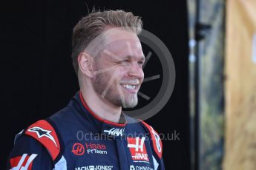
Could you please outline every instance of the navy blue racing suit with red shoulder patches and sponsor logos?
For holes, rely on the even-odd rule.
[[[122,123],[99,118],[76,92],[64,109],[16,135],[7,169],[165,169],[157,132],[142,120],[121,117]]]

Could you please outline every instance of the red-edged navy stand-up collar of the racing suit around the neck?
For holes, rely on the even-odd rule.
[[[85,102],[84,98],[82,97],[82,92],[79,91],[79,101],[81,101],[82,106],[86,111],[88,111],[88,115],[93,119],[93,121],[99,126],[101,125],[101,133],[104,133],[106,135],[111,135],[115,137],[122,136],[125,131],[125,126],[127,124],[127,120],[125,118],[125,115],[122,113],[120,120],[125,123],[115,123],[110,120],[105,120],[102,118],[99,118],[98,115],[96,115],[95,112],[93,112],[87,103]]]

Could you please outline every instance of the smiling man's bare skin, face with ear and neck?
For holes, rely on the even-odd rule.
[[[94,39],[100,46],[97,53],[91,52],[94,46],[89,45],[77,58],[79,84],[86,103],[97,115],[114,122],[119,121],[122,107],[137,106],[137,92],[144,78],[145,57],[140,40],[131,29],[106,27]]]

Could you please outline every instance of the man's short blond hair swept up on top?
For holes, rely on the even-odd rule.
[[[72,59],[76,75],[79,69],[77,62],[79,53],[85,50],[107,26],[126,27],[139,34],[142,30],[142,20],[139,16],[123,10],[95,11],[94,9],[88,16],[81,18],[73,27],[72,36]]]

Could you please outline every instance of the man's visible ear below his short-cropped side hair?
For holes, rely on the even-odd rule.
[[[93,77],[93,58],[86,52],[81,52],[77,58],[79,69],[89,78]]]

